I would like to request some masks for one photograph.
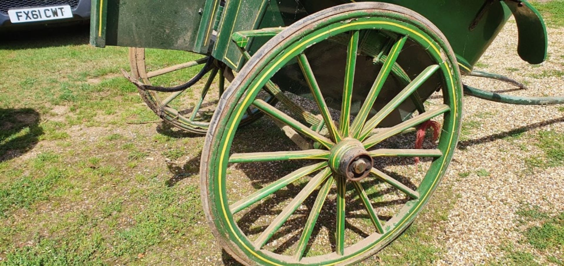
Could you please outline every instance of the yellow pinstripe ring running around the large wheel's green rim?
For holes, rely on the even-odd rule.
[[[355,26],[355,25],[369,25],[369,24],[373,24],[373,25],[377,25],[377,24],[391,25],[391,26],[396,26],[396,27],[398,27],[398,28],[401,28],[401,29],[410,31],[411,33],[417,35],[418,37],[424,39],[427,43],[429,43],[429,45],[431,46],[431,48],[434,49],[434,51],[437,53],[437,55],[439,55],[439,56],[441,55],[439,49],[438,49],[428,38],[426,38],[424,35],[418,33],[417,31],[415,31],[415,30],[413,30],[413,29],[407,28],[406,26],[403,26],[403,25],[400,25],[400,24],[396,24],[396,23],[394,23],[394,22],[388,22],[388,21],[362,21],[362,22],[352,22],[352,23],[350,23],[350,24],[341,25],[341,26],[338,26],[338,27],[329,29],[329,30],[327,30],[327,31],[324,31],[323,33],[320,33],[320,34],[318,34],[318,35],[315,35],[314,37],[311,37],[310,39],[305,40],[305,42],[302,42],[302,43],[298,44],[296,47],[294,47],[294,48],[291,49],[290,51],[286,52],[284,56],[282,56],[277,62],[275,62],[275,64],[273,64],[273,65],[265,72],[265,74],[262,75],[262,77],[258,80],[258,82],[255,82],[254,87],[253,87],[252,89],[250,89],[249,92],[254,92],[255,89],[258,88],[259,84],[261,84],[261,83],[266,79],[266,76],[269,75],[269,74],[275,69],[275,67],[277,67],[277,65],[279,65],[282,61],[284,61],[286,58],[288,58],[288,56],[290,56],[293,52],[297,51],[299,48],[302,48],[303,46],[305,46],[306,44],[308,44],[308,43],[311,42],[312,40],[314,40],[314,39],[316,39],[316,38],[319,38],[319,37],[321,37],[321,36],[323,36],[323,35],[325,35],[325,34],[331,33],[332,31],[337,31],[337,30],[340,30],[340,29],[349,28],[349,27]],[[454,81],[453,81],[453,79],[452,79],[452,73],[451,73],[450,67],[449,67],[449,65],[448,65],[447,62],[445,62],[445,64],[447,64],[447,66],[446,66],[446,67],[447,67],[447,73],[448,73],[448,75],[449,75],[449,77],[450,77],[450,80],[451,80],[452,93],[453,93],[453,94],[456,94],[456,91],[455,91],[455,88],[454,88]],[[241,116],[241,112],[243,112],[244,106],[249,102],[251,96],[252,96],[252,93],[248,93],[248,94],[246,95],[246,97],[244,98],[243,102],[241,102],[241,105],[240,105],[240,107],[239,107],[239,110],[237,110],[237,113],[236,113],[236,115],[235,115],[235,118],[239,118],[239,116]],[[456,99],[453,101],[453,105],[454,105],[454,108],[453,108],[453,110],[451,110],[451,111],[453,112],[454,118],[456,118],[456,105],[457,105]],[[456,123],[453,123],[452,131],[455,130],[455,127],[454,127],[455,124],[456,124]],[[225,139],[230,139],[232,133],[233,133],[233,124],[230,125],[230,128],[229,128],[228,131],[227,131],[227,135],[226,135],[226,138],[225,138]],[[448,152],[450,151],[450,148],[451,148],[451,145],[452,145],[452,141],[453,141],[454,135],[455,135],[455,134],[452,134],[452,135],[451,135],[451,139],[449,140],[449,144],[448,144],[448,146],[447,146],[447,151],[445,152],[445,154],[448,154]],[[222,165],[223,165],[223,160],[224,160],[224,157],[225,157],[225,153],[226,153],[226,151],[227,151],[227,145],[228,145],[228,142],[224,142],[224,145],[223,145],[222,151],[221,151],[221,155],[220,155],[220,157],[219,157],[218,186],[219,186],[220,188],[222,187],[222,178],[221,178],[222,175],[223,175],[223,173],[222,173],[222,170],[223,170],[223,169],[222,169]],[[443,164],[440,166],[440,169],[439,169],[439,172],[438,172],[438,174],[437,174],[437,177],[438,177],[438,175],[440,175],[440,172],[442,172],[442,170],[443,170],[443,168],[444,168],[444,162],[446,161],[446,157],[447,157],[447,156],[444,156]],[[435,178],[435,180],[433,181],[433,184],[431,184],[431,186],[430,186],[431,188],[435,186],[435,183],[437,183],[437,180],[438,180],[438,178]],[[429,196],[429,192],[430,192],[430,190],[424,195],[424,197],[420,198],[419,204],[417,205],[417,207],[416,207],[415,209],[418,209],[418,208],[421,206],[421,204],[423,204],[423,202],[424,202],[424,201],[426,200],[426,198]],[[228,215],[227,215],[227,211],[226,211],[226,209],[225,209],[225,202],[224,202],[224,199],[223,199],[223,193],[221,193],[221,192],[219,193],[219,201],[220,201],[220,203],[221,203],[221,208],[222,208],[222,211],[223,211],[224,218],[226,219],[227,226],[231,229],[231,232],[233,233],[233,236],[235,236],[235,238],[237,238],[237,240],[238,240],[241,244],[243,244],[243,246],[245,247],[245,249],[246,249],[247,251],[249,251],[249,253],[251,253],[251,254],[253,254],[254,256],[256,256],[257,258],[261,259],[263,262],[270,263],[270,264],[272,264],[272,265],[283,266],[283,265],[281,265],[281,264],[278,264],[278,263],[272,262],[271,260],[268,260],[268,259],[266,259],[266,258],[263,258],[261,255],[255,253],[254,250],[250,249],[250,247],[248,247],[248,246],[245,244],[245,242],[243,242],[243,240],[241,240],[241,238],[239,238],[239,235],[237,235],[237,233],[235,232],[235,229],[233,228],[233,225],[231,224],[231,222],[230,222],[230,220],[229,220],[229,217],[228,217]],[[390,235],[393,234],[395,231],[397,231],[404,223],[406,223],[407,220],[409,220],[409,218],[411,218],[411,216],[412,216],[413,214],[415,214],[415,211],[412,212],[411,214],[409,214],[407,218],[404,218],[404,219],[403,219],[403,222],[402,222],[401,224],[399,224],[398,226],[396,226],[392,231],[390,231],[390,233],[389,233],[387,236],[390,236]],[[380,242],[384,241],[384,240],[387,238],[387,236],[384,237],[384,238],[382,238],[380,241],[377,241],[376,243],[374,243],[372,246],[368,247],[368,249],[365,249],[365,250],[362,251],[361,253],[356,254],[356,255],[354,255],[354,256],[351,256],[349,259],[355,258],[356,256],[359,256],[359,255],[364,254],[364,253],[367,252],[368,250],[372,249],[374,246],[380,244]],[[326,264],[326,265],[334,265],[334,264],[337,264],[337,263],[340,263],[340,262],[342,262],[342,260],[341,260],[341,261],[334,262],[334,263],[331,263],[331,264]]]

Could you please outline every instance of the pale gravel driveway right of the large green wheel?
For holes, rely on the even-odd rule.
[[[530,88],[508,93],[563,96],[564,30],[549,28],[548,35],[548,60],[528,65],[517,55],[517,25],[512,20],[475,69],[510,76]],[[490,91],[512,89],[481,78],[465,78],[464,82]],[[530,163],[543,158],[536,139],[540,133],[564,133],[564,108],[514,106],[466,96],[462,131],[459,150],[442,183],[452,186],[459,199],[442,224],[443,230],[436,232],[446,250],[438,264],[492,262],[504,255],[501,247],[507,244],[543,258],[522,241],[521,229],[526,225],[519,222],[516,211],[526,205],[553,215],[564,211],[562,163],[554,167]],[[562,258],[562,249],[553,255]]]

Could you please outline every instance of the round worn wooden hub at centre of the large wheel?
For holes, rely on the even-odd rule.
[[[329,165],[333,172],[350,181],[360,181],[368,176],[373,165],[372,157],[356,139],[344,139],[331,149]]]

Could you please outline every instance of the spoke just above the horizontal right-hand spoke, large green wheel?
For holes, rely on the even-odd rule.
[[[411,128],[411,127],[415,127],[418,124],[421,124],[427,120],[430,120],[431,118],[434,118],[435,116],[444,114],[445,112],[449,111],[450,107],[448,105],[441,105],[433,110],[424,112],[423,114],[417,115],[414,118],[411,118],[409,120],[403,121],[402,123],[399,123],[397,125],[395,125],[394,127],[391,127],[385,131],[379,132],[377,134],[372,135],[372,137],[367,138],[364,142],[364,148],[368,149],[378,143],[380,143],[381,141],[384,141],[384,139],[389,138],[391,136],[394,136],[395,134],[398,134],[400,132],[403,132],[404,130]]]

